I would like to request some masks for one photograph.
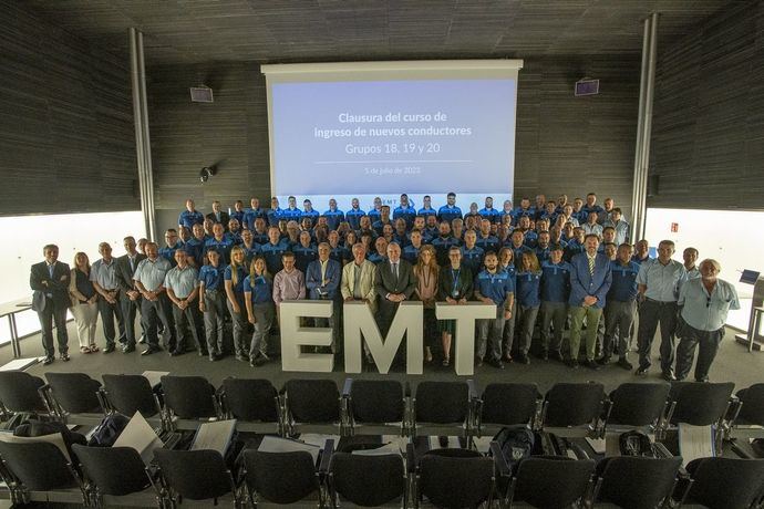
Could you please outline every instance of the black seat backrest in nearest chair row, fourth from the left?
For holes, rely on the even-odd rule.
[[[250,490],[273,503],[295,503],[318,491],[319,481],[310,453],[244,451],[245,480]]]

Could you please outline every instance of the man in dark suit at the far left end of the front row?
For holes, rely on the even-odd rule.
[[[59,354],[69,361],[69,334],[66,333],[66,308],[70,304],[69,282],[71,272],[66,263],[59,260],[59,247],[49,243],[42,248],[44,261],[32,266],[29,285],[34,290],[32,309],[38,312],[42,329],[42,347],[45,351],[44,365],[55,360],[53,346],[53,323],[59,340]]]

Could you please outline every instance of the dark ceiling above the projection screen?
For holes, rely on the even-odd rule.
[[[732,2],[734,3],[734,1]],[[58,27],[148,65],[412,58],[638,54],[641,20],[661,44],[730,0],[28,0]]]

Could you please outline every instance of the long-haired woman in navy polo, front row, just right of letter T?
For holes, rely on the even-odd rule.
[[[540,284],[541,268],[536,254],[526,251],[520,254],[515,276],[515,299],[517,299],[517,318],[515,326],[519,328],[519,344],[517,346],[517,362],[530,364],[528,350],[536,326],[538,309],[541,305]]]

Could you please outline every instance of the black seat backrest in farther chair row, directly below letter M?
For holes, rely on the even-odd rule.
[[[403,420],[403,386],[393,380],[355,380],[350,388],[353,419],[358,423]]]

